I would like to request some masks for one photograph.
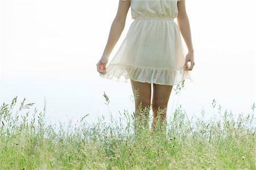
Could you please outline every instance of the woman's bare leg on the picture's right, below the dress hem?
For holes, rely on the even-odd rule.
[[[154,114],[151,130],[155,129],[156,117],[160,114],[160,127],[166,123],[167,104],[172,91],[172,86],[153,83],[152,112]]]

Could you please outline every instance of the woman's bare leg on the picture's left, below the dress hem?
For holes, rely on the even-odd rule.
[[[151,103],[151,83],[136,82],[131,80],[131,87],[135,98],[135,114],[134,118],[139,123],[142,122],[142,117],[148,119]],[[148,123],[143,122],[145,128],[148,128]],[[135,125],[136,128],[137,125]]]

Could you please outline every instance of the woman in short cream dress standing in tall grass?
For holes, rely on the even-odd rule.
[[[125,27],[129,7],[134,21],[109,66],[106,66]],[[177,24],[174,22],[175,18]],[[180,33],[187,45],[187,54],[184,52]],[[190,72],[195,65],[193,54],[185,0],[119,0],[108,42],[97,63],[97,71],[103,78],[115,79],[117,82],[127,82],[130,79],[134,95],[135,91],[139,92],[135,99],[135,117],[141,115],[142,109],[148,117],[152,106],[152,131],[159,111],[162,111],[161,125],[163,121],[166,122],[172,86],[183,82],[185,78],[193,82]]]

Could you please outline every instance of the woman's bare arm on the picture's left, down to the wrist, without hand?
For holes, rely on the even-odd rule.
[[[127,12],[129,11],[130,0],[119,0],[117,14],[113,20],[112,26],[110,28],[108,42],[106,44],[103,56],[110,56],[115,44],[117,43],[123,29],[125,28],[125,20]]]

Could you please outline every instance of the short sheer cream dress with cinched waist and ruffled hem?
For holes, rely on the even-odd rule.
[[[184,70],[185,51],[180,29],[174,19],[179,0],[130,0],[131,23],[113,59],[106,65],[103,78],[115,82],[176,85],[193,82]],[[188,79],[187,80],[185,80]]]

